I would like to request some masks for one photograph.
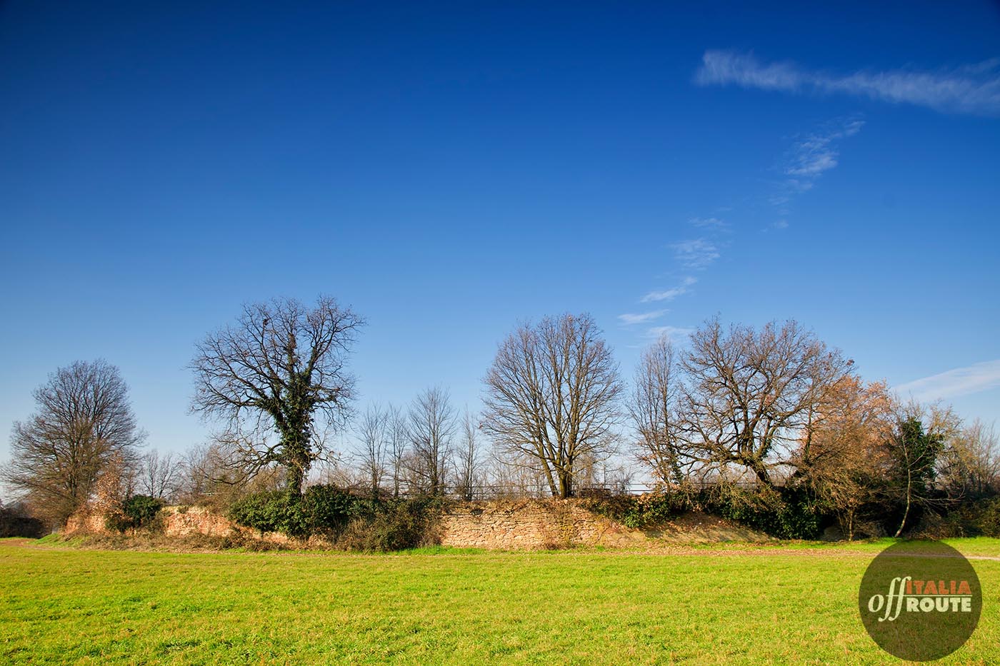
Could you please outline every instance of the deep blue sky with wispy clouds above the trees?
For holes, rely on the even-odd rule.
[[[0,5],[5,433],[104,357],[185,449],[194,342],[320,292],[362,405],[475,409],[519,320],[588,311],[626,376],[795,318],[1000,417],[995,3],[153,4]]]

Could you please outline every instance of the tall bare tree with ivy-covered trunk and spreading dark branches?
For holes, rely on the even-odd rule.
[[[277,463],[288,492],[300,495],[310,466],[328,452],[325,436],[350,414],[346,363],[362,324],[327,297],[312,309],[294,299],[244,306],[235,326],[197,346],[194,411],[226,423],[219,439],[241,467]]]

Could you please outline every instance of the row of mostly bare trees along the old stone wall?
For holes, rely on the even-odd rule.
[[[364,324],[328,297],[244,306],[196,346],[191,407],[215,429],[183,454],[143,449],[116,367],[60,368],[14,424],[3,480],[54,527],[98,495],[226,507],[280,491],[294,504],[315,482],[466,500],[636,479],[674,496],[749,486],[847,538],[986,511],[1000,492],[992,427],[901,401],[794,321],[711,319],[685,344],[651,344],[630,383],[589,315],[523,323],[486,371],[480,413],[439,386],[357,413],[349,360]],[[337,451],[348,433],[354,446]]]

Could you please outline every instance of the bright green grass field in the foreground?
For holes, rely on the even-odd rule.
[[[951,542],[1000,557],[1000,541]],[[178,554],[0,540],[0,663],[899,663],[869,639],[879,546]],[[973,562],[1000,663],[1000,561]]]

